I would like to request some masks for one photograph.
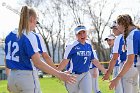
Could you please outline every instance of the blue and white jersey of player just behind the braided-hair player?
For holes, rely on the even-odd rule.
[[[122,34],[120,34],[114,42],[113,50],[112,53],[118,53],[119,58],[118,62],[124,62],[126,60],[126,51],[123,52],[123,47],[124,47],[124,39]]]

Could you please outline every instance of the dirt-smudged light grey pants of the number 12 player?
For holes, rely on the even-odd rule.
[[[41,93],[36,71],[11,70],[8,86],[11,93]]]

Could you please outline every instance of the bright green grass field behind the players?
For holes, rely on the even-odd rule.
[[[108,82],[102,81],[101,76],[99,78],[99,86],[102,93],[113,93],[108,89]],[[67,93],[63,82],[56,78],[43,78],[40,79],[41,90],[42,93]],[[7,81],[2,80],[0,81],[0,93],[8,93],[7,89]]]

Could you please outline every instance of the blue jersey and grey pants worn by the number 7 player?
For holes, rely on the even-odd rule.
[[[64,59],[69,59],[67,70],[77,76],[77,82],[74,84],[67,84],[66,88],[69,93],[91,93],[92,81],[89,73],[89,65],[94,59],[92,46],[85,42],[81,44],[78,41],[67,45]]]

